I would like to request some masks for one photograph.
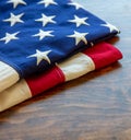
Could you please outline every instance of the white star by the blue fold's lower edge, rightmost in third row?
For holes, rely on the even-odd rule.
[[[78,45],[81,40],[83,40],[85,44],[87,44],[87,40],[85,38],[85,36],[88,33],[79,33],[79,32],[74,31],[74,34],[73,35],[69,35],[68,37],[75,38],[75,45]]]

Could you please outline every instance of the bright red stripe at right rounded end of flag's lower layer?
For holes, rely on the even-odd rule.
[[[99,43],[83,52],[93,59],[95,69],[106,67],[122,58],[122,54],[116,47],[107,43]]]

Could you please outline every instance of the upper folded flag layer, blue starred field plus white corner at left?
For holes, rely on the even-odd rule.
[[[0,13],[0,92],[119,33],[69,0],[1,0]]]

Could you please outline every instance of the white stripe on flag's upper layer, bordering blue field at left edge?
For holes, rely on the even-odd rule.
[[[0,61],[0,92],[19,81],[17,72],[9,65]]]

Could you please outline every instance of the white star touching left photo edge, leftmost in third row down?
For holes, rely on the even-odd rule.
[[[5,37],[3,37],[3,38],[0,38],[0,40],[5,40],[5,44],[8,44],[10,40],[12,40],[12,39],[19,39],[17,37],[16,37],[16,35],[19,34],[20,32],[16,32],[16,33],[14,33],[14,34],[9,34],[9,33],[5,33]]]

